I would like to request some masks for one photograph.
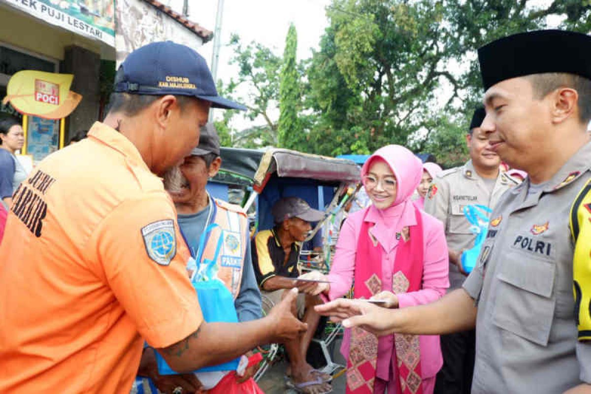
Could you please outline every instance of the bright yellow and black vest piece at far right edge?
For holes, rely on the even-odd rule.
[[[591,181],[583,187],[570,211],[574,239],[573,291],[579,340],[591,340]]]

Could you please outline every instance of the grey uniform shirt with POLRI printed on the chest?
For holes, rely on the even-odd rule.
[[[476,300],[472,393],[557,394],[591,383],[591,342],[577,341],[571,205],[591,178],[586,144],[541,190],[528,180],[492,213],[463,287]]]

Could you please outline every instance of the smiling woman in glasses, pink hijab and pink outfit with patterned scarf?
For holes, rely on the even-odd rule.
[[[388,308],[436,301],[449,286],[443,224],[410,200],[423,174],[408,149],[378,149],[362,168],[372,205],[350,214],[341,229],[329,275],[311,290],[326,299],[345,295],[379,299]],[[376,338],[361,328],[347,330],[341,348],[347,362],[347,393],[433,393],[441,364],[439,336],[394,334]]]

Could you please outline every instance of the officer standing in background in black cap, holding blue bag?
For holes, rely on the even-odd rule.
[[[443,222],[449,249],[449,291],[462,287],[467,275],[460,263],[463,250],[474,245],[476,235],[463,214],[469,204],[493,208],[510,187],[517,185],[499,170],[501,158],[489,148],[488,133],[480,129],[486,115],[484,107],[474,111],[466,143],[470,160],[466,164],[441,172],[425,199],[425,211]],[[448,292],[449,292],[448,291]],[[436,394],[470,393],[474,370],[476,338],[474,330],[441,336],[443,367],[437,374]]]

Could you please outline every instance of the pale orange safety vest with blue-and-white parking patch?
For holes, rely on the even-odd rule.
[[[210,198],[212,198],[210,196]],[[248,217],[245,211],[225,201],[214,201],[213,220],[219,227],[215,227],[203,250],[202,260],[211,261],[215,258],[217,245],[222,242],[217,256],[217,277],[224,282],[232,292],[234,299],[238,297],[242,283],[242,268],[248,242]]]

